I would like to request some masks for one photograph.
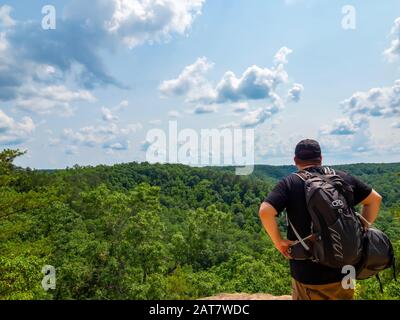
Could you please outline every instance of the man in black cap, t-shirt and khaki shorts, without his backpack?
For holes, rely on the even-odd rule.
[[[315,140],[306,139],[297,144],[294,162],[299,171],[324,173],[321,148]],[[336,171],[336,174],[352,186],[353,205],[361,203],[362,216],[373,223],[378,216],[382,197],[357,178],[342,171]],[[304,181],[295,174],[283,178],[276,185],[261,204],[259,211],[262,224],[275,247],[290,259],[293,300],[353,299],[354,290],[344,289],[341,285],[344,277],[341,269],[329,268],[312,260],[291,259],[288,248],[297,238],[293,229],[288,227],[288,240],[283,239],[276,221],[276,216],[285,209],[289,221],[300,236],[305,238],[310,235],[311,217],[306,206]]]

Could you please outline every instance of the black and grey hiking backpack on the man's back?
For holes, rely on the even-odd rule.
[[[357,279],[376,275],[379,280],[378,272],[395,265],[389,238],[377,229],[364,229],[363,217],[353,208],[352,187],[333,169],[323,171],[324,174],[305,170],[295,173],[304,181],[312,221],[311,236],[307,239],[312,242],[306,243],[290,220],[289,225],[313,261],[331,268],[351,265]]]

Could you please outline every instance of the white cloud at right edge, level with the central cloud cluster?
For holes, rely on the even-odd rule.
[[[391,87],[372,88],[356,92],[341,105],[350,115],[393,117],[400,114],[400,80]]]

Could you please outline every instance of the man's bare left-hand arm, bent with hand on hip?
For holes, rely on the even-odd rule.
[[[290,258],[287,250],[293,241],[285,240],[282,238],[279,231],[278,223],[276,222],[277,212],[273,206],[268,202],[263,202],[260,206],[259,216],[262,225],[270,236],[275,247],[282,253],[286,258]]]

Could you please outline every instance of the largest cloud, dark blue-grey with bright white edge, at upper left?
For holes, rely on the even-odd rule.
[[[57,16],[57,29],[51,32],[43,32],[37,20],[14,20],[12,8],[0,6],[4,28],[0,33],[0,100],[19,100],[19,106],[47,113],[53,105],[70,108],[65,101],[43,101],[41,94],[49,83],[65,87],[68,83],[69,90],[78,94],[82,91],[71,84],[85,90],[105,85],[126,88],[109,73],[102,54],[185,34],[203,2],[72,0]],[[31,102],[44,107],[32,107]]]

